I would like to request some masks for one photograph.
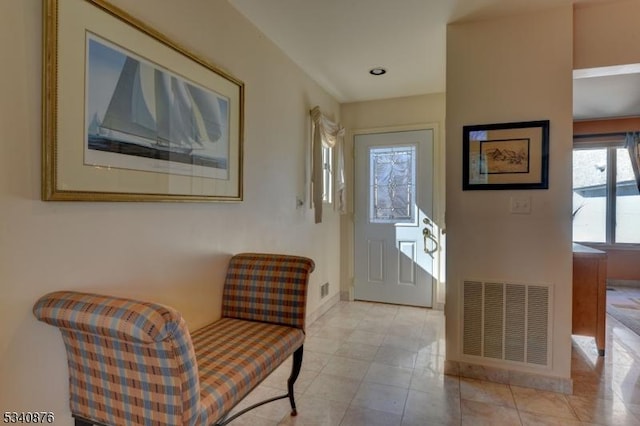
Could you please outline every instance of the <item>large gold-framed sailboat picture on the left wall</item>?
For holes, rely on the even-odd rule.
[[[44,6],[44,200],[242,200],[240,80],[102,0]]]

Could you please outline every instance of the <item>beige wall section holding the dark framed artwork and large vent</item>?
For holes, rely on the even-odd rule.
[[[447,359],[463,360],[460,286],[465,279],[554,286],[547,370],[490,366],[568,378],[571,362],[572,9],[452,24],[447,32]],[[549,119],[548,190],[462,191],[462,127]],[[509,213],[530,197],[529,215]],[[475,362],[465,360],[466,362]]]

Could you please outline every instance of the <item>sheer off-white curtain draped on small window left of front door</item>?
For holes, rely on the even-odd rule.
[[[334,208],[340,213],[346,213],[346,187],[344,180],[344,127],[329,120],[319,107],[311,110],[313,120],[312,139],[312,205],[315,210],[316,223],[322,222],[322,147],[331,147],[335,153],[333,171],[334,179]]]

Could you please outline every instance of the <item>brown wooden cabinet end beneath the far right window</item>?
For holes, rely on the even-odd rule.
[[[604,355],[607,316],[607,253],[573,245],[572,333],[593,336]]]

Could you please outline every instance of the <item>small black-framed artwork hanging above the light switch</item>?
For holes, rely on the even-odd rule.
[[[549,188],[549,120],[463,127],[463,190]]]

